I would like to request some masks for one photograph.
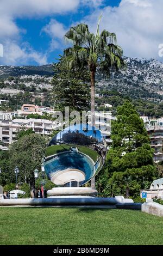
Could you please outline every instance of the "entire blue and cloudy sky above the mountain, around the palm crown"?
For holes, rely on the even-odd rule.
[[[0,0],[0,65],[57,62],[71,26],[115,32],[124,56],[159,57],[163,44],[162,0]]]

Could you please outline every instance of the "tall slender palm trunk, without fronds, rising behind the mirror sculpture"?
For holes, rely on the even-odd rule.
[[[92,126],[95,126],[95,69],[91,70],[91,113]],[[95,190],[95,177],[91,179],[91,188]]]

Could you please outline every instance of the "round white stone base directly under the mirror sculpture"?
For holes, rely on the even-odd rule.
[[[92,190],[91,187],[54,187],[52,190],[47,191],[48,198],[53,198],[56,196],[95,197],[97,193],[97,190]]]

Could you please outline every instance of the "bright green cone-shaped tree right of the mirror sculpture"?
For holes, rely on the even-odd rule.
[[[143,121],[129,101],[117,108],[117,120],[111,129],[112,146],[106,157],[103,191],[115,196],[137,196],[149,188],[158,174],[153,163]]]

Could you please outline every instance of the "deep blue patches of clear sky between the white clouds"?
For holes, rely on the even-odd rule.
[[[112,7],[117,6],[121,0],[110,0],[103,1],[103,4],[99,6],[99,9],[103,9],[108,4]],[[49,45],[51,44],[51,36],[46,33],[41,33],[42,27],[46,26],[52,19],[65,25],[65,27],[71,27],[73,23],[80,22],[84,19],[86,15],[91,15],[92,8],[90,6],[82,6],[74,11],[69,12],[64,15],[51,15],[43,17],[42,19],[16,19],[16,24],[18,27],[26,29],[26,34],[22,35],[23,41],[28,41],[30,45],[36,51],[46,52],[49,50]],[[31,29],[32,28],[32,29]],[[59,54],[62,53],[62,47],[60,49],[56,48],[54,51],[50,51],[48,54],[48,63],[56,62]]]

